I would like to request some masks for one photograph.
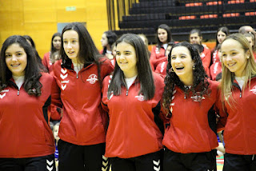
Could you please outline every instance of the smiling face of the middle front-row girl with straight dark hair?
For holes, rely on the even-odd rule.
[[[137,57],[134,46],[126,42],[118,43],[116,60],[125,78],[133,78],[138,74]]]

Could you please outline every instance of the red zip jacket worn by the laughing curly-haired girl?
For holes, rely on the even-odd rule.
[[[216,134],[210,129],[207,117],[218,100],[218,82],[209,82],[210,97],[205,95],[199,100],[191,97],[191,92],[185,98],[182,89],[175,86],[170,104],[170,127],[166,129],[162,141],[166,148],[176,153],[202,153],[218,146]]]

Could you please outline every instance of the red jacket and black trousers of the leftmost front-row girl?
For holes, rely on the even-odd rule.
[[[53,78],[42,73],[42,95],[26,93],[13,78],[0,92],[0,170],[55,170],[54,136],[50,129],[50,89]]]

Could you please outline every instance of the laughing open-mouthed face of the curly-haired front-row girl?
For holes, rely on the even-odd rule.
[[[170,54],[170,64],[182,82],[193,78],[192,67],[194,62],[191,58],[190,50],[185,46],[174,47]]]

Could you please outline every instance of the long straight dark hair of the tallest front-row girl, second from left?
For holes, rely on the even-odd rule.
[[[79,52],[78,52],[78,62],[83,63],[84,66],[88,66],[90,64],[96,64],[98,66],[98,82],[102,86],[101,79],[101,70],[100,70],[100,59],[102,57],[99,54],[96,46],[94,45],[93,39],[90,37],[90,34],[85,26],[83,26],[80,22],[72,22],[69,25],[65,26],[62,30],[62,42],[63,42],[63,34],[67,30],[74,30],[78,33],[79,39]],[[71,68],[72,61],[65,53],[63,48],[63,43],[60,49],[60,55],[62,57],[62,67]]]

